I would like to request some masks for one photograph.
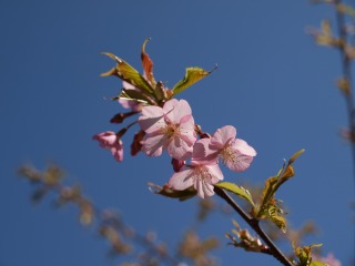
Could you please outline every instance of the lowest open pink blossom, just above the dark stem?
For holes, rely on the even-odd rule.
[[[173,190],[183,191],[190,186],[194,186],[200,197],[214,195],[213,184],[223,180],[223,173],[216,160],[195,161],[195,154],[200,153],[200,144],[209,142],[207,139],[202,139],[196,142],[193,147],[191,165],[187,168],[174,173],[169,181],[169,185]]]

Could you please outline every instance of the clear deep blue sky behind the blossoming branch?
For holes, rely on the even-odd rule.
[[[80,182],[99,206],[115,207],[134,228],[156,231],[172,246],[194,221],[195,201],[179,203],[153,195],[146,182],[163,184],[172,174],[168,156],[143,154],[118,164],[91,140],[119,130],[109,119],[120,109],[104,100],[121,83],[100,78],[115,53],[141,70],[148,52],[155,78],[173,85],[186,66],[219,69],[180,98],[189,100],[196,123],[213,133],[232,124],[258,152],[252,167],[225,178],[261,183],[300,149],[296,177],[277,194],[298,227],[314,221],[323,243],[343,265],[353,255],[354,200],[345,105],[335,89],[336,51],[316,47],[308,25],[333,19],[329,7],[303,1],[0,1],[0,265],[114,265],[108,244],[77,223],[75,209],[54,211],[50,201],[33,206],[32,187],[17,178],[31,162],[63,166],[67,182]],[[130,144],[131,136],[123,139]],[[240,221],[237,216],[235,219]],[[201,228],[222,247],[221,265],[276,265],[265,255],[225,247],[229,218],[214,216]]]

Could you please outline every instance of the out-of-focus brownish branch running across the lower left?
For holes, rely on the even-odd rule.
[[[110,243],[108,255],[121,256],[131,262],[123,265],[179,265],[185,260],[197,266],[215,264],[210,252],[219,246],[216,238],[207,237],[200,241],[196,231],[187,231],[179,244],[178,252],[171,254],[168,245],[158,239],[155,232],[141,235],[123,222],[119,212],[95,206],[83,195],[80,185],[63,185],[64,171],[57,165],[50,165],[42,172],[26,165],[19,170],[19,174],[34,185],[31,196],[34,203],[41,202],[45,195],[52,193],[55,195],[57,207],[68,204],[77,206],[80,223],[94,227],[95,232]],[[211,202],[201,201],[197,219],[202,222],[211,209],[215,209]]]

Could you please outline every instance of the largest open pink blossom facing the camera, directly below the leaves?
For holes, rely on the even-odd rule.
[[[181,161],[192,155],[196,133],[191,108],[185,100],[172,99],[163,108],[144,106],[139,124],[146,133],[142,151],[149,156],[160,156],[163,149]]]

